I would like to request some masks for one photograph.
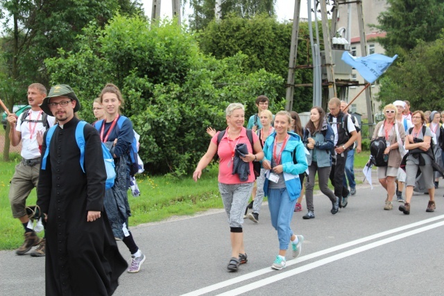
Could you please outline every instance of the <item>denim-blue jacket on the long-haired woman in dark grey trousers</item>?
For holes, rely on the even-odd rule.
[[[310,155],[307,155],[308,165],[311,166],[313,150],[316,150],[316,162],[318,163],[318,167],[325,168],[327,166],[332,166],[332,149],[334,146],[334,132],[332,126],[324,121],[323,126],[321,127],[321,132],[316,132],[310,137],[316,141],[316,144],[314,145],[314,149],[307,148],[310,153]],[[307,147],[307,143],[304,143],[305,147]]]

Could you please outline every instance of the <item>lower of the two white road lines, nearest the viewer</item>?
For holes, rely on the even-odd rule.
[[[299,268],[295,268],[295,269],[289,270],[287,272],[282,272],[279,275],[274,275],[273,277],[267,277],[266,279],[261,279],[259,281],[255,281],[254,283],[247,284],[245,286],[241,286],[240,288],[236,288],[236,289],[227,291],[225,293],[219,294],[219,296],[240,295],[240,294],[246,293],[250,290],[254,290],[254,289],[260,288],[262,286],[266,286],[268,284],[273,284],[276,281],[280,281],[281,279],[286,279],[287,277],[292,277],[293,275],[298,275],[301,272],[305,272],[307,270],[311,270],[311,269],[317,268],[319,266],[322,266],[322,265],[325,265],[328,263],[332,263],[332,262],[337,261],[339,259],[343,259],[345,257],[352,256],[352,255],[358,254],[360,252],[364,252],[366,250],[373,249],[374,247],[379,247],[380,245],[385,245],[386,243],[398,241],[402,238],[406,238],[407,236],[419,234],[420,232],[426,232],[427,230],[434,229],[436,227],[441,227],[443,225],[444,225],[444,221],[441,221],[441,222],[438,222],[438,223],[435,223],[432,225],[427,225],[425,227],[413,229],[409,232],[404,232],[403,234],[398,234],[395,236],[391,236],[389,238],[384,238],[381,241],[375,241],[374,243],[369,243],[368,245],[363,245],[361,247],[357,247],[355,249],[348,250],[348,251],[342,252],[340,254],[336,254],[336,255],[327,257],[325,259],[318,260],[313,263],[308,263],[307,265],[303,265]]]

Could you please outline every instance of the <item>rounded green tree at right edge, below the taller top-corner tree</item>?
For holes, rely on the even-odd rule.
[[[444,110],[444,35],[419,44],[379,80],[379,101],[408,100],[411,110]]]

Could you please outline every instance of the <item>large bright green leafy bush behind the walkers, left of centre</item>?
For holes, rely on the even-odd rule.
[[[105,83],[118,85],[123,114],[141,134],[139,154],[148,171],[179,176],[193,171],[207,150],[207,126],[226,127],[229,103],[244,103],[250,114],[257,94],[266,94],[273,107],[283,107],[282,77],[246,71],[247,62],[241,53],[222,60],[203,55],[196,35],[171,21],[151,26],[140,17],[116,16],[105,28],[85,28],[78,49],[60,50],[46,67],[53,83],[74,88],[87,121]]]

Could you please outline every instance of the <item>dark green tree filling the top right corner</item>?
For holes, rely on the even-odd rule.
[[[375,27],[387,33],[378,42],[388,55],[398,54],[402,58],[418,41],[436,40],[444,28],[443,0],[387,0],[387,4]]]

